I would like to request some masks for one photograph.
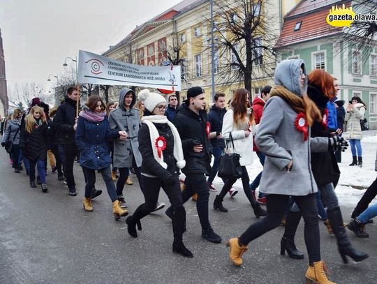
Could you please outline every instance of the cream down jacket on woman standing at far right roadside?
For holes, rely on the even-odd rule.
[[[360,119],[364,119],[364,115],[365,106],[362,103],[357,103],[350,112],[346,113],[346,139],[362,140]]]

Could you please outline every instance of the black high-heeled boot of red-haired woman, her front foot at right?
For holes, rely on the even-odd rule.
[[[367,253],[356,251],[350,244],[339,207],[327,210],[327,218],[329,218],[332,230],[334,231],[335,237],[337,237],[338,250],[344,263],[348,263],[347,255],[355,260],[355,262],[360,262],[369,257]]]

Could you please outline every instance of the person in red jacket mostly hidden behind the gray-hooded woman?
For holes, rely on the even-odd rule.
[[[254,112],[254,120],[256,121],[256,124],[260,123],[260,119],[262,119],[263,115],[263,107],[265,107],[265,103],[269,99],[269,91],[271,91],[271,86],[267,85],[260,91],[260,97],[257,95],[253,100],[253,112]],[[256,143],[253,143],[253,151],[256,152],[259,161],[262,165],[265,165],[265,154],[260,152],[258,150],[258,147]],[[256,178],[253,180],[253,182],[250,184],[250,188],[253,191],[253,194],[255,196],[255,190],[259,186],[260,177],[262,177],[262,172],[256,176]],[[266,196],[259,192],[258,196],[258,202],[260,204],[267,204]]]

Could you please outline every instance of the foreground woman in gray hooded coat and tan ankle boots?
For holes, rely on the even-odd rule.
[[[239,238],[227,242],[230,260],[242,264],[242,255],[253,239],[279,227],[289,197],[304,216],[304,237],[309,255],[306,279],[332,283],[325,276],[320,257],[320,234],[316,205],[317,186],[311,172],[310,154],[338,146],[337,138],[310,137],[313,121],[322,119],[320,111],[306,96],[306,71],[301,59],[284,60],[276,66],[271,98],[265,105],[256,133],[258,149],[266,155],[260,186],[267,193],[267,216],[253,223]]]

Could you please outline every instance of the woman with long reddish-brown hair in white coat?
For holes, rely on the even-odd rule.
[[[249,174],[246,170],[246,165],[253,163],[253,151],[250,151],[250,149],[253,149],[253,132],[255,132],[253,112],[247,107],[249,99],[250,94],[246,89],[237,89],[237,91],[235,91],[232,97],[232,103],[230,103],[230,109],[224,115],[221,133],[223,138],[228,142],[230,142],[232,137],[235,144],[235,151],[240,156],[239,163],[242,166],[242,186],[244,187],[244,193],[251,207],[253,207],[254,214],[259,218],[260,216],[266,216],[267,213],[260,207],[251,193]],[[221,212],[228,212],[228,209],[223,207],[223,198],[236,181],[237,179],[228,179],[226,181],[221,193],[217,195],[214,200],[214,209],[218,209]]]

